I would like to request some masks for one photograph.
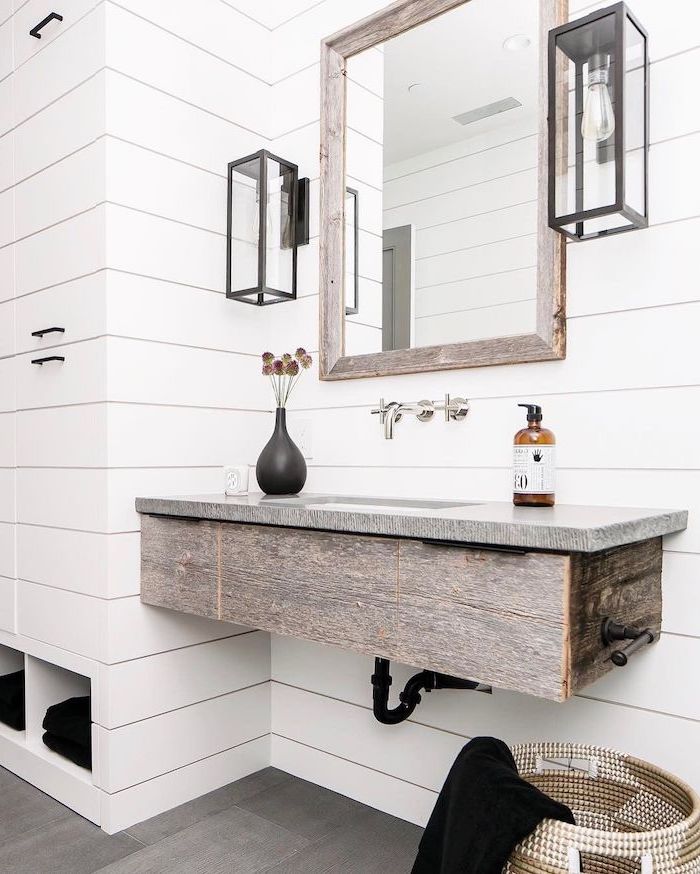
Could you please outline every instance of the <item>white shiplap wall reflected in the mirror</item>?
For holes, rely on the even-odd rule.
[[[536,123],[499,126],[386,168],[384,227],[415,228],[415,343],[535,330]]]

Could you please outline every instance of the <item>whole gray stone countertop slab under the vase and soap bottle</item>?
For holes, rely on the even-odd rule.
[[[506,502],[305,494],[137,498],[140,513],[446,540],[562,552],[598,552],[682,531],[686,510],[515,507]]]

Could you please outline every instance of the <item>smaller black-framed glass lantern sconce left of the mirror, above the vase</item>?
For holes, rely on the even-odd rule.
[[[228,165],[226,297],[255,306],[297,296],[309,242],[309,180],[265,149]]]

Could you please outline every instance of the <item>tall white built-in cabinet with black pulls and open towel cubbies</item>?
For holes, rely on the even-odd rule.
[[[241,431],[216,409],[235,383],[211,351],[230,340],[225,299],[202,290],[225,275],[223,239],[206,230],[225,223],[225,179],[196,169],[218,143],[225,173],[241,134],[213,136],[164,93],[157,77],[186,69],[191,47],[140,16],[71,0],[36,40],[46,5],[15,3],[3,20],[12,5],[0,9],[0,675],[24,668],[27,728],[0,725],[0,766],[114,832],[270,762],[269,637],[143,606],[134,510],[137,494],[217,488]],[[158,152],[188,144],[188,162],[156,154],[154,131]],[[159,218],[166,194],[198,216]],[[46,357],[63,360],[32,363]],[[220,435],[204,462],[202,434]],[[86,694],[91,771],[41,739],[47,707]]]

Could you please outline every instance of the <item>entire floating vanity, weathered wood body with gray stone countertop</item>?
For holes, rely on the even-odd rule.
[[[659,632],[661,537],[687,523],[672,510],[373,503],[139,498],[141,599],[562,701],[613,669],[606,617]]]

